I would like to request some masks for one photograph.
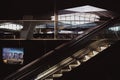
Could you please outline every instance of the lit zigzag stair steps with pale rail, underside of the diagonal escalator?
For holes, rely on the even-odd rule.
[[[79,50],[72,56],[66,58],[55,66],[49,68],[48,70],[40,73],[35,80],[54,80],[64,75],[64,73],[73,70],[74,68],[80,66],[82,63],[88,61],[95,55],[99,54],[101,51],[105,50],[110,46],[107,39],[101,39],[94,41],[89,46],[82,50]]]

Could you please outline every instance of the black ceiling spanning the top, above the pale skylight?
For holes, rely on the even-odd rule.
[[[0,0],[0,19],[21,19],[24,15],[44,16],[57,10],[92,5],[120,13],[119,0]]]

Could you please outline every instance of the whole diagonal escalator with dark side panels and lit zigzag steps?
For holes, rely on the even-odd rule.
[[[119,40],[119,19],[90,28],[72,41],[62,44],[9,75],[4,80],[53,80],[80,66]]]

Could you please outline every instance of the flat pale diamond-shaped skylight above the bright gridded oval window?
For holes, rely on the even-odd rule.
[[[80,7],[75,7],[75,8],[69,8],[69,9],[65,9],[65,10],[75,11],[75,12],[97,12],[97,11],[107,11],[107,10],[105,10],[105,9],[101,9],[101,8],[94,7],[94,6],[90,6],[90,5],[80,6]]]

